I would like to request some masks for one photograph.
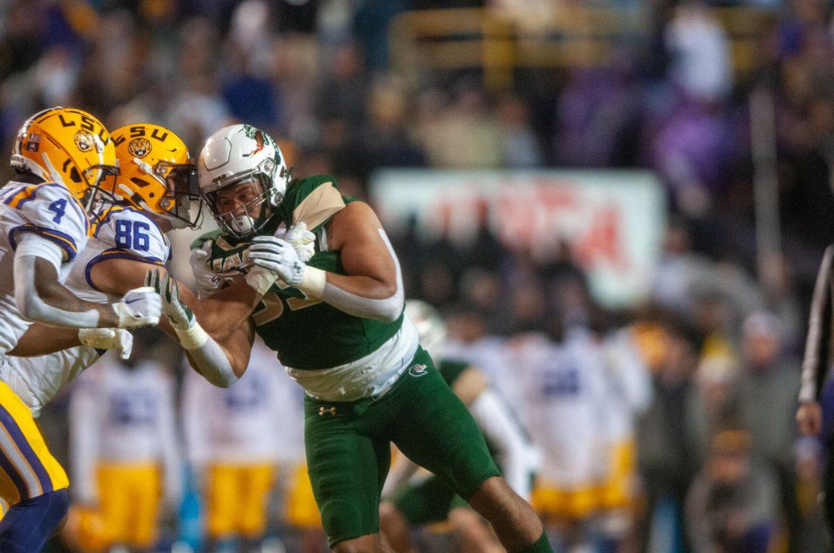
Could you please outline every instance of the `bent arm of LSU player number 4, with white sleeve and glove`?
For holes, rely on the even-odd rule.
[[[62,262],[63,252],[54,242],[34,234],[23,237],[14,257],[14,299],[21,315],[71,328],[133,328],[159,321],[160,301],[153,291],[128,291],[123,301],[111,304],[83,301],[58,281]]]

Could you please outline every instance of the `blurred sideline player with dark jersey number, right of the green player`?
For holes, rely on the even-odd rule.
[[[527,397],[520,416],[544,452],[532,505],[565,541],[589,545],[611,465],[604,348],[575,327],[563,343],[531,335],[515,350]]]

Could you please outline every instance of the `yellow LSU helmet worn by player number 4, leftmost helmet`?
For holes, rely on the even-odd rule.
[[[96,117],[73,107],[50,107],[29,117],[12,149],[12,168],[46,182],[58,182],[95,217],[107,196],[104,177],[118,174],[110,134]]]

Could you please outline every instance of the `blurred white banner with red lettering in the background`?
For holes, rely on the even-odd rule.
[[[371,194],[392,234],[413,220],[425,237],[467,242],[485,221],[543,260],[567,243],[609,307],[646,295],[666,225],[661,182],[644,171],[385,170]]]

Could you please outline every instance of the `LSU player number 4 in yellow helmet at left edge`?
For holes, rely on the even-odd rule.
[[[18,181],[0,190],[0,361],[23,343],[30,321],[68,327],[74,339],[78,331],[71,329],[158,322],[153,291],[125,289],[122,298],[94,303],[61,284],[81,263],[76,257],[87,246],[90,219],[100,216],[100,183],[118,172],[115,164],[107,129],[87,112],[53,107],[21,127],[12,156]],[[30,350],[48,351],[42,346],[35,341]],[[52,378],[46,368],[39,366],[33,378]],[[39,551],[66,514],[68,478],[28,409],[33,380],[5,372],[2,380],[0,496],[12,507],[0,521],[0,551]]]

